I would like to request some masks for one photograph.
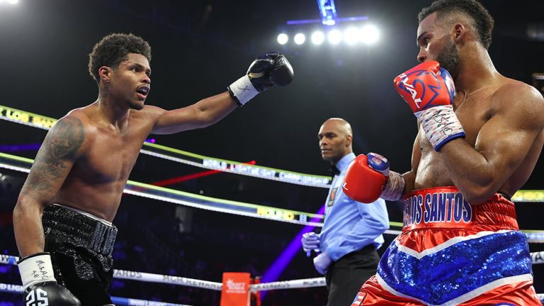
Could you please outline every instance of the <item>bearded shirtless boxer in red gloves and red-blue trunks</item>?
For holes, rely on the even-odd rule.
[[[510,197],[542,150],[544,99],[494,68],[492,28],[474,0],[419,13],[422,64],[395,79],[418,118],[412,171],[361,155],[344,181],[355,200],[404,200],[402,234],[352,305],[541,305]]]

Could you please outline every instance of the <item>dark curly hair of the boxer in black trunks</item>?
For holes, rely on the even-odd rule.
[[[102,38],[89,53],[89,74],[100,83],[98,69],[102,66],[113,69],[119,67],[120,62],[128,60],[129,53],[137,53],[147,57],[151,62],[151,47],[142,38],[133,34],[113,33]]]

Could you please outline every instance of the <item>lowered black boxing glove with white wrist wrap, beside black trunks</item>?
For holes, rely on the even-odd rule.
[[[26,256],[17,265],[25,288],[25,305],[81,305],[77,297],[57,283],[49,253]]]

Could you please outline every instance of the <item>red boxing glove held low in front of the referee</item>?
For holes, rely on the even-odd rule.
[[[342,191],[357,202],[373,203],[380,198],[388,174],[389,162],[385,157],[373,153],[369,153],[368,157],[361,154],[349,164]]]

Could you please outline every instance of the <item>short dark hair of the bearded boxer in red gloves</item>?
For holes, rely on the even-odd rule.
[[[431,6],[423,8],[417,16],[419,23],[423,21],[431,13],[436,12],[436,16],[441,18],[450,13],[462,13],[472,19],[475,30],[480,36],[482,45],[489,49],[491,45],[491,32],[493,30],[493,17],[489,15],[480,2],[475,0],[437,0]]]

